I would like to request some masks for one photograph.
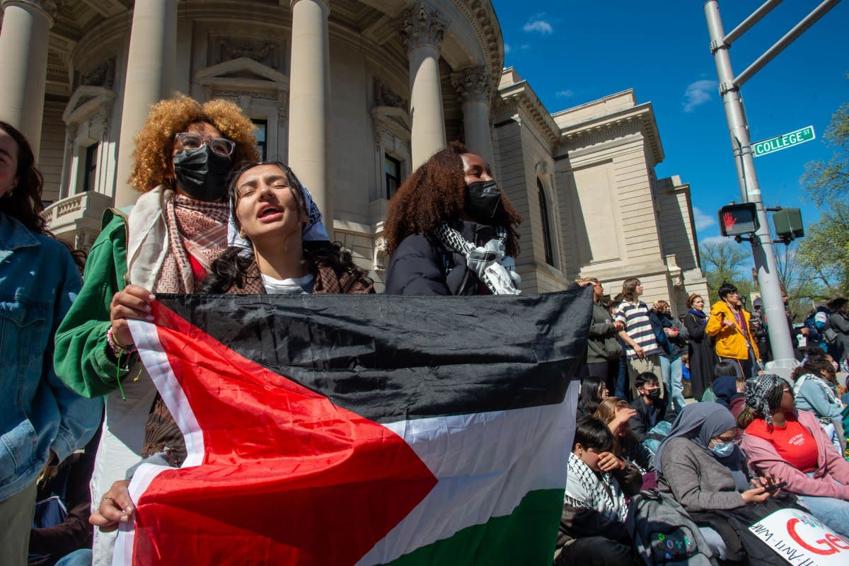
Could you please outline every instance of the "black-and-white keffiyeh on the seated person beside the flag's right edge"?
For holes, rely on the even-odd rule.
[[[594,509],[611,521],[625,522],[628,506],[619,484],[609,472],[593,472],[574,453],[569,455],[564,503],[571,507]]]

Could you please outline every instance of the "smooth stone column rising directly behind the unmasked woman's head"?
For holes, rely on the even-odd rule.
[[[329,176],[330,53],[326,0],[291,0],[289,165],[312,193],[333,239]]]

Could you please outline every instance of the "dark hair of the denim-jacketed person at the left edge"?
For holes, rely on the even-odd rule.
[[[42,216],[44,177],[38,171],[32,147],[24,134],[8,122],[0,120],[0,130],[8,133],[18,144],[18,166],[14,173],[17,184],[14,190],[0,199],[0,212],[20,221],[31,232],[49,236],[47,221]]]

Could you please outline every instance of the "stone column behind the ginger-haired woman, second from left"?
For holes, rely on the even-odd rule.
[[[177,0],[144,0],[132,9],[130,53],[121,109],[121,137],[115,172],[115,206],[132,205],[138,198],[128,179],[132,150],[150,106],[171,96],[177,58]],[[151,187],[152,188],[152,187]]]

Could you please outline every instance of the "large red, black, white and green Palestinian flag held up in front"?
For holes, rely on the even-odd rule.
[[[592,291],[160,295],[132,321],[186,437],[117,564],[551,563]]]

